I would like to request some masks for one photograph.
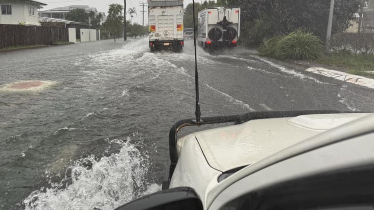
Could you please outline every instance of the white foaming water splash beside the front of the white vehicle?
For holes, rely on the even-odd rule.
[[[134,145],[122,140],[116,154],[77,160],[59,183],[32,192],[24,201],[26,210],[113,210],[145,194],[160,190],[146,180],[150,163]]]

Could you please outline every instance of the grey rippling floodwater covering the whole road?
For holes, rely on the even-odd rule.
[[[202,116],[285,109],[374,111],[372,89],[285,68],[246,50],[198,49]],[[114,209],[160,190],[169,129],[194,117],[193,44],[147,39],[0,54],[0,209]]]

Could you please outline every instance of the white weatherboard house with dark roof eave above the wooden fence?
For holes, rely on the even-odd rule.
[[[38,9],[46,5],[33,0],[0,0],[0,24],[40,25]]]

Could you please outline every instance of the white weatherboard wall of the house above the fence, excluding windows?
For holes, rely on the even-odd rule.
[[[19,24],[24,22],[27,25],[40,25],[38,22],[37,6],[29,3],[21,3],[14,1],[0,1],[1,4],[12,5],[12,15],[2,15],[0,12],[0,24]],[[28,14],[28,7],[34,6],[34,14]]]

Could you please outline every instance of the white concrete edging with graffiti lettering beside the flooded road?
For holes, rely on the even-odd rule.
[[[374,80],[370,78],[325,68],[308,68],[306,71],[374,89]]]

